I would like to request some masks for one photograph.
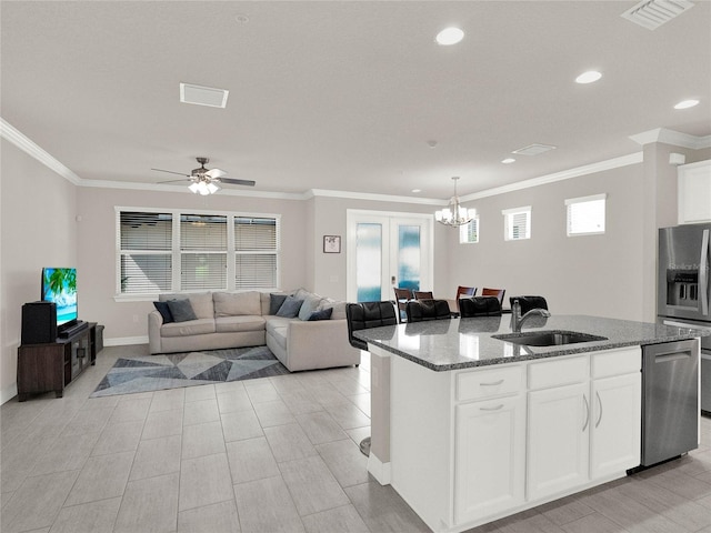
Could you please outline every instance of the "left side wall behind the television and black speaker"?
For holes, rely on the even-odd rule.
[[[77,188],[6,140],[0,149],[0,403],[3,403],[17,394],[22,304],[40,299],[42,266],[77,264]]]

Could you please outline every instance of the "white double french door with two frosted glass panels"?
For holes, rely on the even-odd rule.
[[[392,300],[393,288],[432,290],[432,215],[348,210],[347,298]]]

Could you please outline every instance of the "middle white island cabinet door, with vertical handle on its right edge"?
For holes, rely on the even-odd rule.
[[[588,481],[589,383],[529,393],[528,500]]]

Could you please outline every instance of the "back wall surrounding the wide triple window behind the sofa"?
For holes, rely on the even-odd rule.
[[[187,190],[187,189],[186,189]],[[116,210],[114,207],[194,209],[281,214],[283,289],[307,285],[307,207],[301,200],[190,192],[153,192],[119,189],[79,188],[77,212],[79,238],[79,314],[83,320],[104,324],[104,343],[144,341],[150,301],[117,302],[116,295]]]

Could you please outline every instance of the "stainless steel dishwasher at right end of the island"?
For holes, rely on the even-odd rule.
[[[699,340],[642,346],[642,466],[699,445]]]

